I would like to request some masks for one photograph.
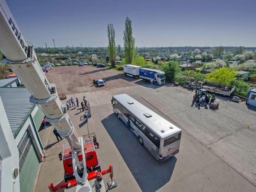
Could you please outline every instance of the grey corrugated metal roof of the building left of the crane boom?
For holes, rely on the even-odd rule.
[[[0,96],[12,134],[15,135],[34,106],[34,103],[29,102],[31,93],[25,87],[0,87]]]

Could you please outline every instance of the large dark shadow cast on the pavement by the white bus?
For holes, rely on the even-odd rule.
[[[158,162],[115,113],[103,119],[102,124],[142,191],[155,192],[170,181],[176,157]]]

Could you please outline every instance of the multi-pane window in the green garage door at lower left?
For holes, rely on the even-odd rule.
[[[20,156],[20,172],[23,167],[23,164],[26,160],[26,157],[29,153],[29,149],[31,147],[32,143],[29,138],[29,135],[27,132],[23,135],[22,139],[20,140],[20,143],[18,145],[18,150],[19,150],[19,156]]]

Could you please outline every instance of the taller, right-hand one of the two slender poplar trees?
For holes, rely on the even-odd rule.
[[[131,20],[126,17],[124,31],[125,61],[131,64],[135,53],[135,38],[132,36]]]

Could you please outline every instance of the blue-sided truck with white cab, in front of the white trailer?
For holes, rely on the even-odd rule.
[[[153,79],[154,84],[165,84],[165,73],[160,70],[140,68],[139,77],[143,79],[143,81],[150,81]]]

